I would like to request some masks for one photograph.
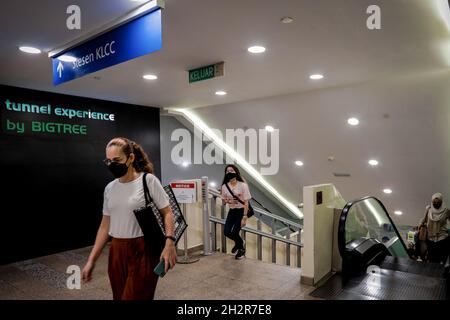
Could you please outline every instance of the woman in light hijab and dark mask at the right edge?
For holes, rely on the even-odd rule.
[[[425,217],[420,227],[427,228],[428,260],[445,264],[450,251],[447,221],[450,210],[445,205],[442,194],[435,193],[431,197],[431,205],[426,207]]]

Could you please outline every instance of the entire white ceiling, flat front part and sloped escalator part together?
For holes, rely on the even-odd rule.
[[[81,7],[81,31],[65,27],[70,4]],[[371,4],[381,8],[381,30],[365,27]],[[46,54],[17,50],[50,51],[138,5],[3,2],[0,83],[147,106],[203,107],[197,112],[217,128],[272,123],[280,128],[282,159],[269,180],[294,203],[301,186],[331,181],[344,197],[380,196],[389,209],[405,212],[400,222],[415,223],[433,192],[450,195],[445,0],[166,0],[161,51],[58,87]],[[280,23],[283,16],[294,22]],[[253,44],[266,46],[266,53],[250,55]],[[219,61],[225,61],[224,77],[188,84],[187,70]],[[308,79],[317,72],[325,79]],[[159,79],[144,81],[145,73]],[[215,96],[218,89],[228,95]],[[358,128],[346,126],[350,114],[361,118]],[[381,162],[375,170],[366,165],[369,157]],[[294,158],[305,166],[293,166]],[[333,178],[334,171],[352,177]],[[384,186],[394,190],[390,198],[379,193]]]

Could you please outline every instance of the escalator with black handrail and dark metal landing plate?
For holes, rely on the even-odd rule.
[[[311,296],[335,300],[446,300],[448,276],[438,263],[413,260],[386,208],[374,197],[342,210],[342,272]]]

